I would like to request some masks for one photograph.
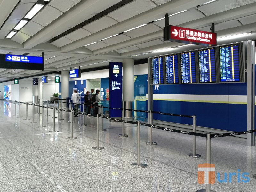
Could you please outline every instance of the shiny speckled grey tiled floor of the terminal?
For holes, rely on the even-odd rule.
[[[18,106],[17,106],[18,109]],[[206,162],[206,140],[198,137],[197,153],[202,158],[190,158],[192,137],[189,135],[153,130],[156,146],[145,145],[149,129],[141,126],[141,162],[147,168],[133,168],[137,162],[137,128],[126,125],[127,138],[120,138],[122,124],[104,119],[106,132],[100,132],[100,146],[104,150],[92,150],[96,146],[96,118],[86,117],[87,126],[82,127],[82,116],[74,120],[74,137],[70,136],[69,114],[65,120],[56,119],[52,130],[52,109],[49,117],[35,115],[32,122],[32,106],[21,105],[21,115],[15,114],[15,104],[0,101],[0,191],[1,192],[196,192],[205,185],[197,182],[197,166]],[[36,109],[37,110],[37,109]],[[36,111],[37,112],[37,111]],[[19,111],[18,111],[19,114]],[[46,109],[44,111],[46,115]],[[56,113],[60,116],[60,113]],[[212,164],[216,165],[217,192],[240,192],[256,190],[256,147],[247,147],[246,140],[235,137],[212,139]],[[224,173],[248,172],[248,183],[220,183]],[[243,178],[241,178],[243,179]],[[229,179],[228,179],[229,181]]]

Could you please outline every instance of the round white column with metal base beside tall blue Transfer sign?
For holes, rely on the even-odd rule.
[[[123,102],[126,109],[132,109],[134,101],[134,59],[124,59],[123,64]],[[125,111],[125,119],[132,121],[132,111]]]

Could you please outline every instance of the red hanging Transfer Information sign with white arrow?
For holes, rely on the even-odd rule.
[[[170,25],[170,41],[198,45],[216,45],[217,34]]]

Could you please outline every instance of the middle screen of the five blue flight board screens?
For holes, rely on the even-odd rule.
[[[180,54],[181,83],[196,83],[195,52]]]

